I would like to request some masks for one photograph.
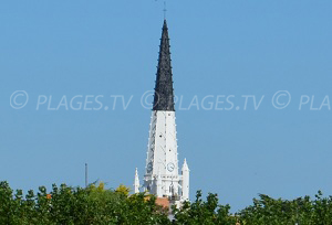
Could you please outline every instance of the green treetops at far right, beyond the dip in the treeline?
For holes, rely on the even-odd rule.
[[[310,196],[292,201],[274,200],[260,194],[253,205],[239,214],[246,225],[328,225],[332,224],[332,196],[323,197],[321,191],[314,200]]]

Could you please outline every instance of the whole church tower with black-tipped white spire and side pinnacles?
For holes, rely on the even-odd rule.
[[[185,160],[179,174],[169,47],[164,20],[143,191],[179,204],[189,200],[189,169]]]

